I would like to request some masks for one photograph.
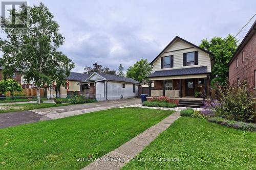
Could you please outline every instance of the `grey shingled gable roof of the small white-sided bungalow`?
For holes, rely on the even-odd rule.
[[[109,74],[104,74],[104,73],[101,73],[101,72],[94,72],[92,75],[90,75],[86,81],[83,81],[83,82],[89,82],[90,79],[93,75],[98,75],[100,77],[102,77],[102,79],[105,79],[105,80],[112,80],[112,81],[118,81],[118,82],[127,82],[127,83],[135,83],[135,84],[139,84],[140,82],[137,82],[136,80],[132,79],[132,78],[126,78],[126,77],[121,77],[121,76],[116,76],[116,75],[109,75]],[[95,80],[93,80],[95,81]]]

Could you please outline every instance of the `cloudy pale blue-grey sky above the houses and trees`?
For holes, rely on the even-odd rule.
[[[76,72],[95,62],[111,69],[121,63],[126,69],[140,58],[152,61],[176,35],[196,45],[203,38],[236,35],[256,12],[255,0],[42,2],[66,38],[60,50],[73,60]]]

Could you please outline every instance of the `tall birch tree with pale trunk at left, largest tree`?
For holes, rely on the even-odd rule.
[[[2,18],[1,23],[7,34],[7,40],[0,41],[0,48],[4,53],[4,68],[18,69],[26,83],[34,80],[37,103],[40,104],[40,87],[49,86],[62,74],[69,76],[74,63],[57,51],[63,44],[64,37],[59,33],[57,22],[44,4],[33,7],[23,5],[18,15],[14,15],[17,11],[13,11],[9,18]],[[13,23],[14,18],[27,23],[26,33],[15,31],[19,29],[19,25],[8,24]]]

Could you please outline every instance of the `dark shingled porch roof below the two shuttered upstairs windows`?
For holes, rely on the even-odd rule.
[[[150,76],[148,76],[148,78],[165,77],[165,76],[182,76],[182,75],[200,75],[200,74],[210,74],[210,72],[207,71],[206,66],[180,68],[180,69],[155,71]]]

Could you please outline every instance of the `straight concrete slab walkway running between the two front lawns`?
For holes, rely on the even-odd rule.
[[[150,144],[160,133],[165,131],[179,117],[179,112],[169,115],[160,123],[140,133],[138,136],[127,141],[114,151],[105,154],[97,161],[82,168],[82,170],[121,169],[125,163],[129,162],[132,158],[135,158],[148,144]]]

